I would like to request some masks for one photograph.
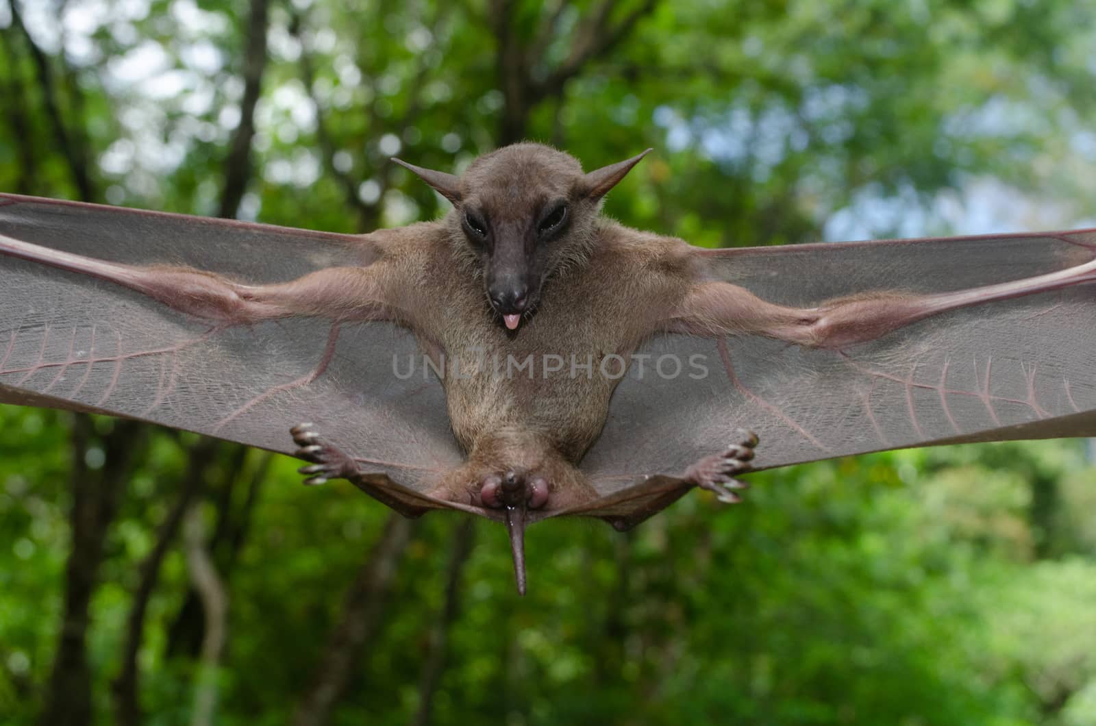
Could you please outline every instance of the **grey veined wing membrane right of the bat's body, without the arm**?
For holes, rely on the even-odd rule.
[[[715,280],[812,307],[1065,270],[1096,259],[1096,230],[699,254]],[[640,352],[644,375],[632,365],[583,461],[598,490],[617,500],[614,515],[629,492],[648,512],[666,487],[642,477],[680,474],[721,451],[738,428],[761,436],[757,468],[907,446],[1096,435],[1096,284],[951,310],[845,350],[663,336]]]

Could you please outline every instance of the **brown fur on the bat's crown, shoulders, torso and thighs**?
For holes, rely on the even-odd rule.
[[[578,161],[562,152],[535,144],[500,149],[460,178],[449,214],[406,228],[380,260],[399,281],[390,286],[403,300],[399,307],[412,307],[408,297],[418,297],[409,322],[424,347],[447,362],[456,359],[467,376],[447,365],[443,377],[449,421],[469,463],[441,483],[437,496],[475,498],[487,475],[517,470],[548,479],[552,509],[594,497],[574,465],[601,433],[619,381],[602,376],[598,366],[606,355],[626,356],[659,328],[687,287],[690,248],[606,219],[600,211],[605,190],[592,196],[589,184]],[[538,299],[521,327],[507,331],[484,295],[488,256],[467,238],[463,209],[473,206],[501,227],[524,227],[547,201],[561,197],[570,205],[570,226],[532,250]],[[562,356],[563,371],[544,376],[546,354]],[[532,381],[524,372],[492,375],[494,360],[505,371],[511,360],[530,355],[537,367]],[[581,367],[586,361],[589,377]]]

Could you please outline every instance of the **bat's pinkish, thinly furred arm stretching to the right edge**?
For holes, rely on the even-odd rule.
[[[814,308],[774,305],[723,282],[696,285],[674,311],[671,330],[705,336],[757,334],[808,348],[841,349],[876,340],[925,318],[973,305],[1096,282],[1096,261],[1044,275],[950,293],[876,292]]]

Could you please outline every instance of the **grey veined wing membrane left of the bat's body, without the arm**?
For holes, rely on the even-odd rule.
[[[374,259],[368,236],[7,194],[0,235],[253,284]],[[393,360],[416,353],[414,337],[392,324],[215,327],[128,288],[0,254],[0,402],[114,413],[286,453],[289,428],[307,418],[364,469],[423,490],[461,454],[436,378],[393,375]]]

